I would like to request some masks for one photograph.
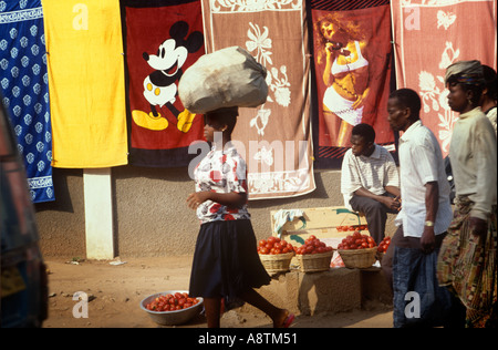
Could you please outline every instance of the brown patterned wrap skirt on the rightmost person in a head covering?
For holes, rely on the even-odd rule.
[[[440,248],[437,278],[466,307],[466,327],[492,327],[498,292],[496,206],[485,237],[475,236],[469,228],[473,206],[467,197],[458,197],[455,217]]]

